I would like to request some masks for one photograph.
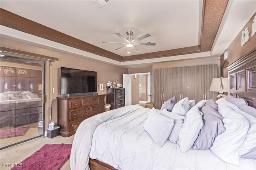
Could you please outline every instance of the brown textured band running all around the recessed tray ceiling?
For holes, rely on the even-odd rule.
[[[220,22],[224,15],[228,0],[203,0],[203,14],[202,14],[202,29],[201,29],[201,44],[192,47],[184,47],[180,49],[170,49],[166,51],[158,51],[153,53],[146,53],[140,55],[120,56],[110,51],[96,47],[92,44],[81,41],[77,38],[71,37],[56,31],[42,24],[28,20],[18,16],[12,12],[0,8],[0,25],[16,29],[31,35],[35,35],[56,43],[74,47],[82,51],[92,54],[100,55],[115,61],[135,61],[142,59],[154,59],[160,57],[170,57],[176,55],[184,55],[191,53],[200,53],[210,51],[214,43]]]

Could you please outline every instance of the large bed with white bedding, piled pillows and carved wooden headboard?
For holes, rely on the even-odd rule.
[[[255,170],[255,70],[256,50],[228,67],[227,99],[195,104],[172,98],[161,109],[125,106],[84,120],[74,137],[71,169]],[[245,88],[235,86],[240,79],[246,81]],[[176,119],[168,117],[174,113]],[[174,131],[180,120],[182,126]]]

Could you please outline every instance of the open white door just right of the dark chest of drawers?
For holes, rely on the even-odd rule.
[[[132,76],[123,74],[123,86],[125,88],[125,106],[132,104]]]

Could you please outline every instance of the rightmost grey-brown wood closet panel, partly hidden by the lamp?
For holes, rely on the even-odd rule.
[[[218,77],[218,66],[217,64],[204,65],[204,70],[204,94],[206,94],[206,100],[216,100],[218,92],[212,92],[209,89],[212,84],[212,78]]]

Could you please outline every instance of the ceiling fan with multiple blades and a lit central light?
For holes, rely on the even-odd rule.
[[[116,50],[118,49],[121,49],[123,47],[134,47],[134,49],[136,51],[138,51],[139,49],[136,47],[136,45],[156,45],[156,43],[150,43],[150,42],[146,42],[146,43],[139,43],[138,41],[141,41],[142,39],[145,39],[147,37],[150,36],[149,33],[145,34],[145,35],[142,35],[136,39],[133,39],[131,37],[132,35],[132,31],[127,31],[126,34],[128,35],[127,38],[125,38],[124,36],[122,36],[120,33],[116,33],[116,35],[120,38],[122,38],[125,43],[118,43],[118,42],[102,42],[102,43],[115,43],[115,44],[123,44],[121,47],[117,48]]]

